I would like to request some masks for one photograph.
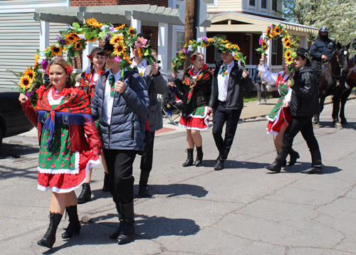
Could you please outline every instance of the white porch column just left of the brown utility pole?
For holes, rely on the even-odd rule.
[[[170,60],[168,60],[168,23],[158,23],[158,60],[164,71],[170,70]]]

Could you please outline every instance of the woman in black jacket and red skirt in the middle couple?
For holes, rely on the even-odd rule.
[[[179,92],[184,94],[182,116],[179,126],[187,129],[187,161],[183,166],[192,166],[194,163],[194,145],[197,146],[197,159],[195,166],[201,166],[203,161],[203,147],[201,130],[208,129],[209,114],[212,112],[208,107],[211,94],[211,72],[204,64],[204,55],[193,53],[189,67],[182,80],[177,79],[177,72],[173,72],[174,84]]]

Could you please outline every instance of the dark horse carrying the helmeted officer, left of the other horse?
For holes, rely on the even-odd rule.
[[[325,64],[320,76],[319,85],[319,114],[314,115],[314,127],[320,128],[319,116],[323,112],[325,98],[333,95],[333,124],[336,129],[342,129],[339,121],[340,100],[345,90],[345,81],[349,74],[350,43],[346,46],[337,43],[337,50]]]

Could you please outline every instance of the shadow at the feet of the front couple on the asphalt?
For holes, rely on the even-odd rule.
[[[81,245],[117,245],[116,240],[109,238],[109,235],[117,227],[117,221],[115,226],[108,224],[108,222],[96,222],[98,220],[109,219],[114,217],[110,214],[109,217],[96,217],[90,220],[87,224],[82,224],[80,234],[74,234],[73,237],[66,240],[65,244],[55,246],[43,254],[55,254],[62,249],[66,249],[70,246]],[[115,215],[117,217],[117,215]],[[149,217],[147,215],[135,215],[137,220],[135,221],[136,229],[135,234],[131,242],[135,242],[137,239],[156,239],[157,237],[167,236],[189,236],[197,234],[200,227],[192,219],[171,219],[167,217]]]

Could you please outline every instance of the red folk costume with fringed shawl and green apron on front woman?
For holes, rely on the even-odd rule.
[[[56,92],[42,85],[37,92],[35,109],[30,100],[22,106],[38,128],[38,189],[70,192],[84,183],[90,168],[100,164],[102,145],[90,116],[89,97],[78,88]]]

